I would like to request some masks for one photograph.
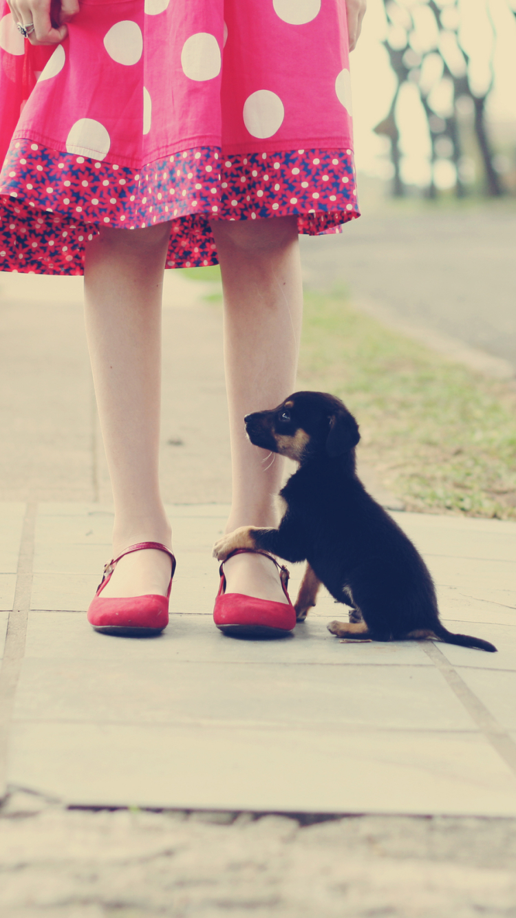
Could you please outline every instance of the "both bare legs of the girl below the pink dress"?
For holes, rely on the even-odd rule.
[[[296,218],[213,225],[225,300],[233,504],[228,531],[277,522],[282,461],[246,439],[243,416],[293,389],[302,290]],[[103,229],[84,267],[86,330],[115,501],[114,554],[136,542],[171,543],[158,484],[161,298],[169,225]],[[264,461],[265,460],[265,461]],[[270,465],[270,467],[268,467]],[[260,555],[226,565],[228,589],[284,601]],[[166,592],[170,561],[145,551],[123,558],[103,596]]]

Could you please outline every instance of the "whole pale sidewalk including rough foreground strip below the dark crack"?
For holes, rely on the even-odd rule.
[[[221,313],[203,286],[167,274],[162,479],[178,566],[169,628],[137,640],[84,615],[112,511],[81,281],[0,278],[0,911],[510,918],[516,524],[395,513],[448,627],[496,655],[341,644],[328,596],[281,641],[220,634],[211,545],[230,456]]]

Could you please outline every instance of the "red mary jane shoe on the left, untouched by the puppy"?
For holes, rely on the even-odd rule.
[[[149,593],[147,596],[130,596],[121,599],[102,599],[100,594],[107,587],[109,580],[120,558],[131,552],[140,552],[143,548],[155,548],[172,559],[172,574],[166,596]],[[168,600],[172,589],[175,571],[174,554],[166,545],[159,542],[140,542],[130,545],[125,552],[118,554],[104,568],[104,577],[100,582],[88,609],[88,621],[95,631],[103,634],[121,634],[133,637],[146,637],[159,634],[168,624]]]

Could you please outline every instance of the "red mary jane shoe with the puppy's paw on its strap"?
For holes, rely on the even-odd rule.
[[[219,567],[220,587],[213,610],[213,621],[217,627],[225,634],[239,636],[249,634],[256,637],[279,637],[291,632],[296,627],[296,610],[286,591],[290,576],[286,567],[278,565],[272,554],[254,548],[238,548],[228,555],[226,561],[235,554],[264,554],[266,558],[270,558],[279,570],[288,605],[285,602],[275,602],[273,599],[256,599],[243,593],[226,593],[223,561]]]

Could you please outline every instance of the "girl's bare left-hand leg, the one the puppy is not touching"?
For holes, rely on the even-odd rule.
[[[115,502],[114,556],[161,542],[171,530],[158,483],[161,303],[170,226],[102,229],[84,265],[85,320],[95,393]],[[130,554],[103,596],[165,594],[170,560]]]

